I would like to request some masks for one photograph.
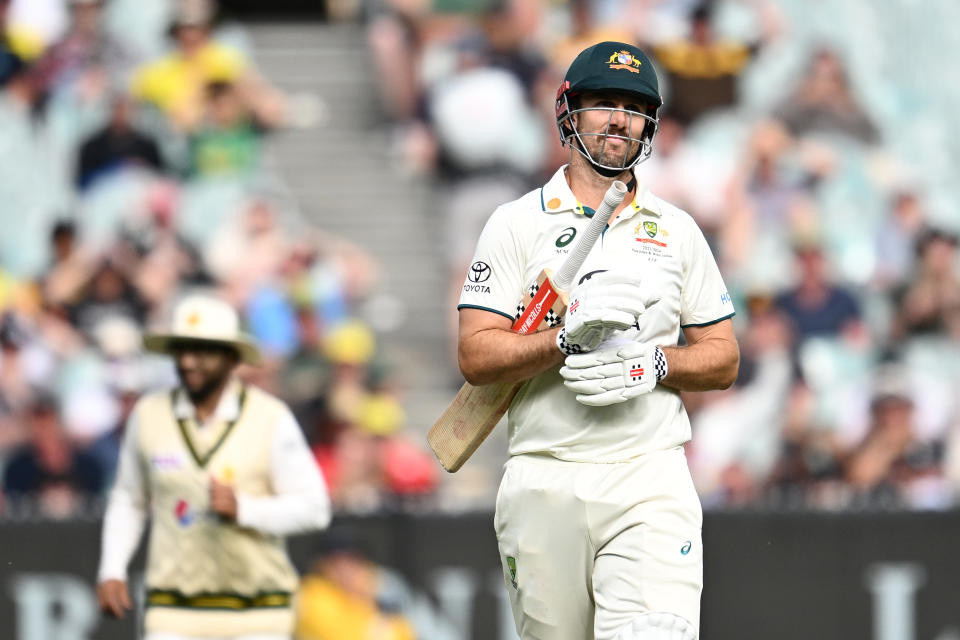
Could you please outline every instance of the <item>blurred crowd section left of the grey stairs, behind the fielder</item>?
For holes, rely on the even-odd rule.
[[[297,212],[264,162],[296,126],[213,0],[0,0],[0,512],[68,518],[109,489],[124,423],[175,384],[141,349],[179,297],[216,292],[267,354],[337,508],[419,501],[361,309],[377,262]]]

